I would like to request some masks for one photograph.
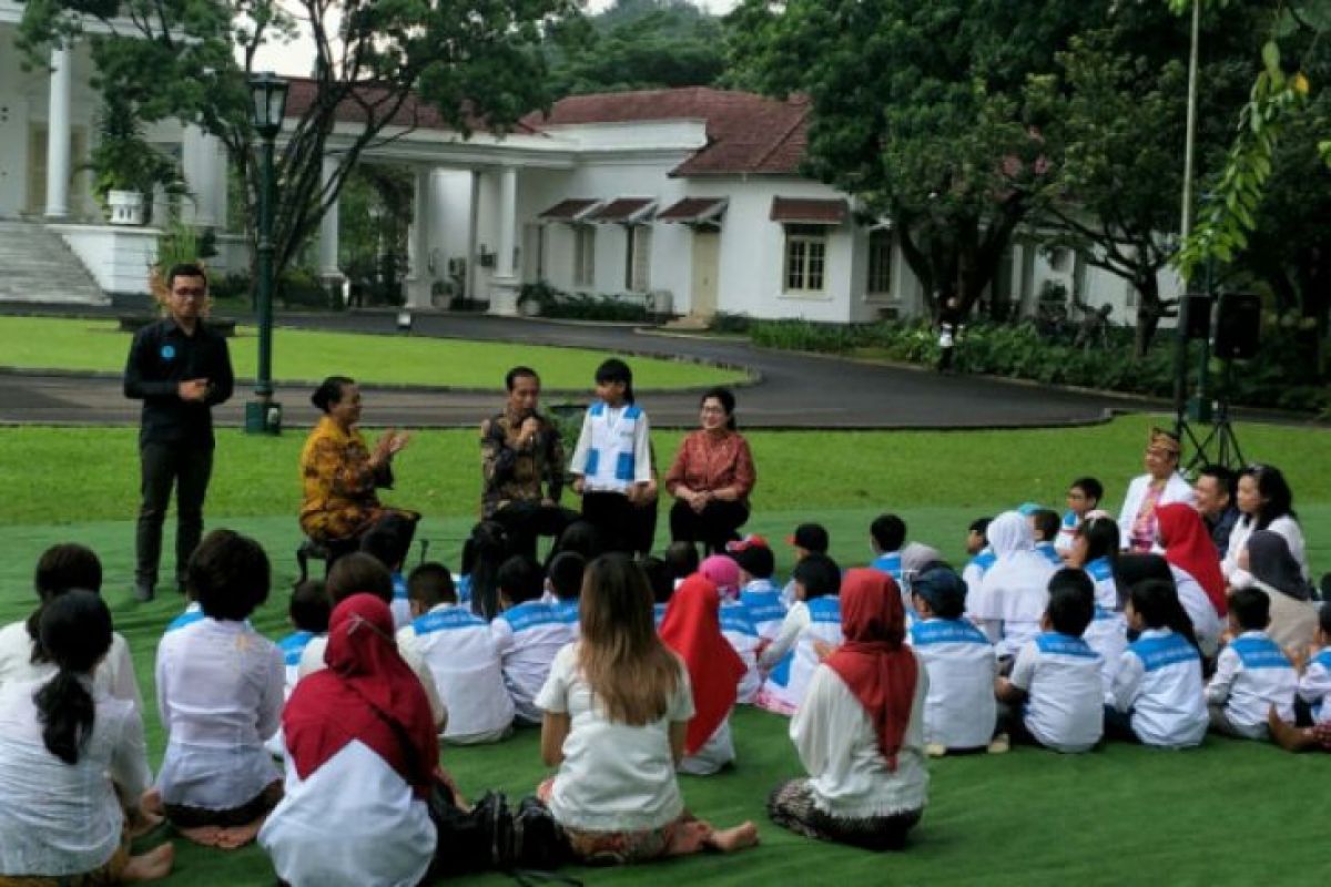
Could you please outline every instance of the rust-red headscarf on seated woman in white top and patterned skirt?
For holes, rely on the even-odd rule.
[[[876,569],[851,569],[841,580],[845,642],[825,665],[837,673],[869,714],[888,769],[910,721],[918,665],[905,644],[906,617],[896,580]]]

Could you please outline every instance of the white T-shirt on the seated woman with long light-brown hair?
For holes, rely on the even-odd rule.
[[[683,662],[666,713],[651,723],[632,726],[606,717],[578,669],[578,644],[555,656],[536,705],[570,718],[564,759],[550,794],[550,813],[560,824],[643,831],[660,828],[684,811],[669,746],[671,725],[693,717]]]

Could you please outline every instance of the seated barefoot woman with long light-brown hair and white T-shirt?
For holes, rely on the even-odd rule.
[[[675,781],[693,697],[679,657],[656,636],[652,592],[624,555],[583,577],[582,636],[563,648],[536,698],[540,754],[558,766],[538,794],[588,863],[634,863],[757,843],[752,822],[713,828]]]

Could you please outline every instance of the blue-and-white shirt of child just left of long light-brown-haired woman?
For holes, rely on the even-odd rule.
[[[511,606],[490,624],[495,649],[503,657],[504,684],[523,721],[540,723],[536,694],[550,677],[555,654],[578,640],[576,626],[576,610],[540,601]]]

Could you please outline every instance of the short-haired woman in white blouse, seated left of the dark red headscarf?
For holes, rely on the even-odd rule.
[[[166,733],[157,790],[184,836],[232,850],[254,839],[282,798],[264,742],[282,714],[285,666],[277,645],[248,622],[268,600],[268,555],[253,539],[214,529],[186,576],[204,618],[157,645]]]

